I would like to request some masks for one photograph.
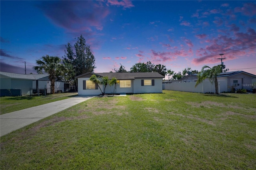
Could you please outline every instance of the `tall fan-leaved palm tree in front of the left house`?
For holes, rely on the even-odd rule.
[[[56,79],[58,79],[60,75],[64,75],[65,67],[60,62],[61,59],[57,56],[45,55],[42,57],[42,60],[36,60],[37,66],[34,66],[37,72],[40,73],[44,70],[44,72],[49,74],[51,94],[55,93],[54,84]]]

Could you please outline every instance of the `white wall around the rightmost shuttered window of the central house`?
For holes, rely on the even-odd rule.
[[[162,88],[162,79],[154,79],[155,85],[154,86],[142,86],[141,85],[142,79],[135,79],[133,81],[133,93],[163,93]],[[152,79],[143,79],[143,80],[152,80]]]

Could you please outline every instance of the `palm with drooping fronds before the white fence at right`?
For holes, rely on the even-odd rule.
[[[202,67],[202,70],[198,72],[198,80],[196,81],[196,86],[204,79],[208,78],[211,82],[214,81],[215,83],[215,93],[218,94],[218,80],[217,76],[222,72],[222,65],[213,66],[212,68],[205,65]],[[195,86],[195,87],[196,87]]]

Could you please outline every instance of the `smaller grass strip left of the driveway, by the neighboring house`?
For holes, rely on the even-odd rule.
[[[77,93],[55,93],[46,96],[1,97],[0,114],[10,113],[46,103],[68,99]]]

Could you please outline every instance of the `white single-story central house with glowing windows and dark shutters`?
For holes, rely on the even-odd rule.
[[[162,76],[159,73],[85,73],[78,75],[78,95],[100,95],[98,86],[90,81],[90,77],[95,74],[97,77],[115,77],[119,84],[107,85],[105,93],[162,93]],[[99,78],[100,79],[100,78]],[[104,86],[100,85],[102,91]]]

